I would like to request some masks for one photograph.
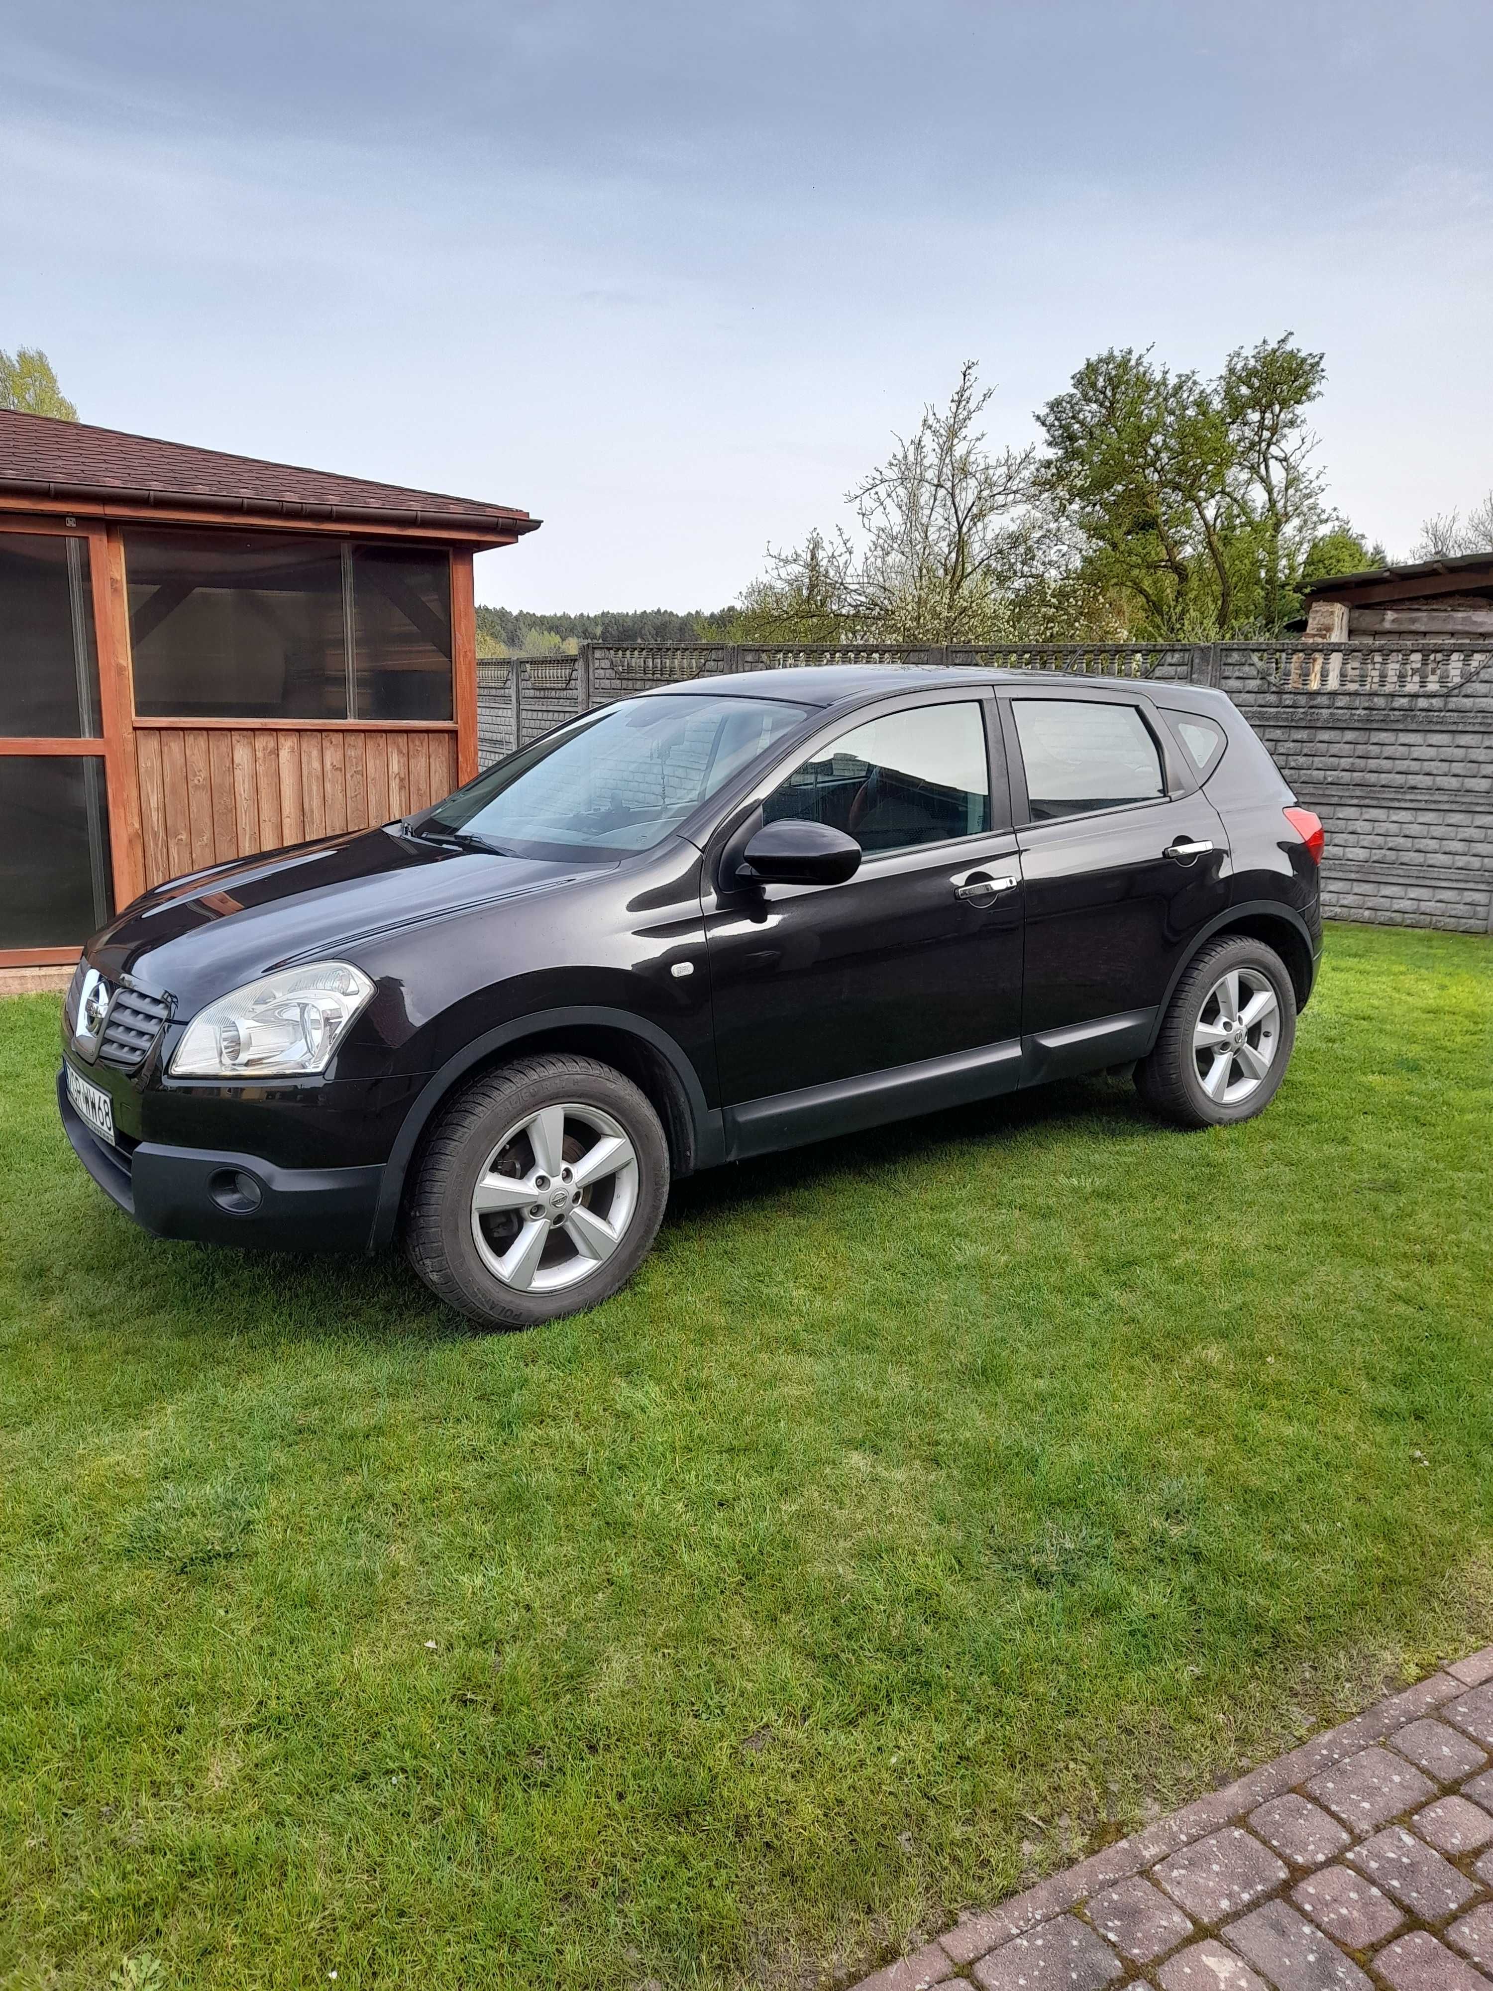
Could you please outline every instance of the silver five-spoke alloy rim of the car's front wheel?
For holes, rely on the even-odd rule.
[[[516,1292],[557,1292],[617,1250],[637,1213],[637,1153],[609,1113],[575,1101],[516,1121],[472,1191],[482,1262]]]

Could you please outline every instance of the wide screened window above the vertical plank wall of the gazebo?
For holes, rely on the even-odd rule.
[[[271,532],[125,540],[147,719],[450,719],[450,559]]]

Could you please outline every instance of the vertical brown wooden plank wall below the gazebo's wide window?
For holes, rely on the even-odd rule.
[[[456,786],[458,735],[420,727],[135,723],[147,884],[366,830]]]

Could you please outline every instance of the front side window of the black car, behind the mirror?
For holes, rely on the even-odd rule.
[[[766,822],[826,822],[862,850],[904,850],[989,830],[989,761],[977,703],[888,713],[816,747],[762,804]]]

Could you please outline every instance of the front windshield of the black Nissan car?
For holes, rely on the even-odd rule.
[[[478,774],[416,834],[522,858],[647,850],[806,717],[802,705],[709,693],[607,705]]]

